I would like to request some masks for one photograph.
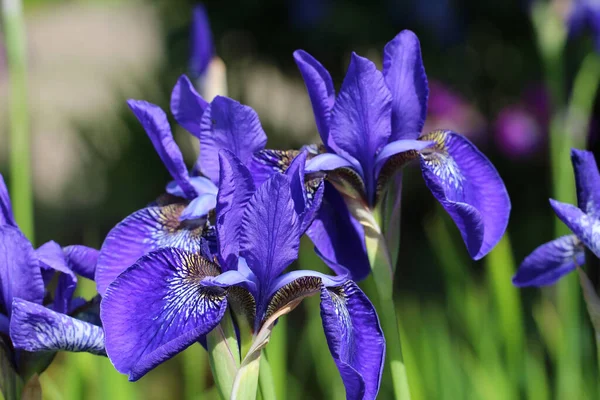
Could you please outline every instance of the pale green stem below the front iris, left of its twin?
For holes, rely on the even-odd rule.
[[[240,352],[230,310],[207,336],[208,357],[215,385],[222,399],[231,398],[240,368]]]

